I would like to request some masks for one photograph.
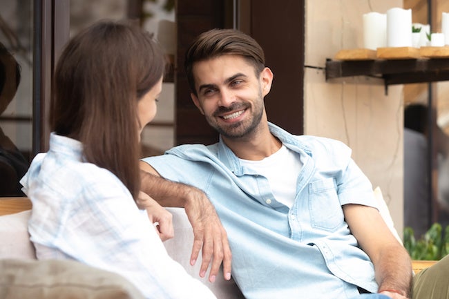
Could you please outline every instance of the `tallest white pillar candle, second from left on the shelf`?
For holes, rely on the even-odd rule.
[[[387,11],[387,46],[412,46],[412,10],[390,8]]]

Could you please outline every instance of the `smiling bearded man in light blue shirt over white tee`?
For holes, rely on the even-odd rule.
[[[142,189],[185,207],[196,231],[192,262],[203,250],[200,276],[213,255],[209,280],[221,260],[229,278],[228,235],[232,275],[246,298],[409,298],[410,258],[350,148],[267,121],[273,73],[256,41],[237,30],[204,32],[185,67],[193,102],[220,142],[144,159],[142,170],[182,184],[144,174]]]

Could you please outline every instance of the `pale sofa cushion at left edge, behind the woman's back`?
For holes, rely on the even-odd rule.
[[[0,258],[35,259],[28,219],[31,210],[0,216]]]

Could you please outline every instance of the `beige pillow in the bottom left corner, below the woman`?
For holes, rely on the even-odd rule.
[[[144,299],[125,278],[72,260],[0,260],[0,299]]]

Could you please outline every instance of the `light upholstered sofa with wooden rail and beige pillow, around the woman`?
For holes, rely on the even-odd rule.
[[[0,299],[144,299],[131,283],[115,273],[75,261],[37,261],[27,229],[30,207],[26,198],[0,198]],[[217,298],[244,298],[236,283],[225,280],[222,272],[213,283],[200,278],[200,260],[195,266],[189,262],[193,230],[187,215],[182,208],[167,209],[173,214],[175,231],[175,237],[164,242],[169,255],[206,284]]]

